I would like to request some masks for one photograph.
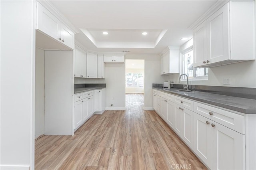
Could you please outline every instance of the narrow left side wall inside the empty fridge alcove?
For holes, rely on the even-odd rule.
[[[35,138],[44,134],[44,50],[36,48]]]

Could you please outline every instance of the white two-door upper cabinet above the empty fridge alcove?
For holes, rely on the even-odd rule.
[[[56,41],[74,49],[75,34],[69,30],[56,16],[37,3],[36,29],[52,37]]]

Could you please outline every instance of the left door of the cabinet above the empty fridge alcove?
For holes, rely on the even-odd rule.
[[[36,28],[52,38],[60,38],[60,21],[40,3],[37,3]]]

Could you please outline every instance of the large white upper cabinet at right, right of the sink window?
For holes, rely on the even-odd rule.
[[[230,1],[193,30],[194,67],[255,60],[254,1]]]

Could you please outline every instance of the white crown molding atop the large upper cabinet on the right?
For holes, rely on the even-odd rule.
[[[207,18],[209,18],[214,12],[216,12],[218,9],[220,9],[222,6],[224,6],[226,3],[228,3],[229,0],[218,0],[216,1],[202,16],[200,16],[192,25],[188,27],[190,30],[194,30],[197,26],[202,24]]]

